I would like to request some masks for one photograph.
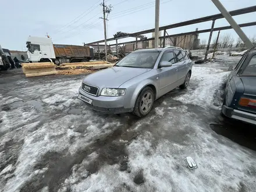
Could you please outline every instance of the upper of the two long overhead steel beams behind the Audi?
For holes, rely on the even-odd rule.
[[[236,15],[243,15],[243,14],[252,13],[252,12],[256,12],[256,5],[250,6],[248,8],[232,10],[229,12],[229,14],[231,16],[236,16]],[[211,20],[222,19],[222,18],[224,18],[223,15],[221,13],[219,13],[216,15],[211,15],[211,16],[201,17],[198,19],[188,20],[186,22],[180,22],[180,23],[175,23],[175,24],[169,24],[167,26],[162,26],[162,27],[159,27],[159,31],[166,30],[166,29],[172,29],[172,28],[176,28],[176,27],[188,26],[190,24],[195,24],[195,23],[209,22]],[[129,35],[136,37],[137,35],[152,33],[154,31],[155,31],[155,29],[148,29],[148,30],[139,31],[136,33],[131,33]],[[108,38],[107,41],[113,41],[113,40],[115,40],[115,38]],[[89,42],[88,44],[97,44],[97,43],[101,43],[101,42],[104,42],[104,40]],[[86,45],[88,45],[88,44],[86,44]]]

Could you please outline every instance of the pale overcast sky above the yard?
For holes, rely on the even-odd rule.
[[[82,45],[104,39],[102,6],[98,0],[9,0],[1,2],[0,45],[10,50],[26,50],[26,40],[29,35],[45,37],[46,33],[52,37],[55,44]],[[221,0],[227,10],[235,10],[256,5],[255,0]],[[108,37],[113,37],[117,31],[132,33],[154,28],[154,0],[106,0],[106,4],[113,6],[108,19]],[[219,13],[211,0],[161,0],[159,26],[183,22]],[[77,18],[77,19],[76,19]],[[256,12],[235,16],[237,23],[255,22]],[[215,22],[215,27],[228,26],[225,19]],[[211,22],[193,24],[168,30],[169,34],[184,33],[211,28]],[[253,37],[256,26],[244,27],[244,32]],[[214,32],[214,37],[217,35]],[[237,39],[232,30],[222,31],[230,33]],[[151,37],[151,34],[147,34]],[[200,34],[201,40],[208,40],[209,33]],[[120,42],[134,40],[127,38]]]

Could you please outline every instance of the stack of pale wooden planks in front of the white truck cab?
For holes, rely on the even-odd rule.
[[[54,63],[22,63],[22,70],[26,77],[45,76],[56,74]]]

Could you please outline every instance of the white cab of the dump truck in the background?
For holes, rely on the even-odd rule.
[[[27,39],[27,58],[29,62],[40,62],[41,59],[55,59],[52,39],[47,37],[29,37]]]

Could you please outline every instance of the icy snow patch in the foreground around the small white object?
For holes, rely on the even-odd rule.
[[[90,175],[87,159],[73,168],[79,174],[72,173],[60,191],[253,191],[255,151],[212,133],[202,125],[202,115],[188,109],[182,105],[169,111],[158,126],[145,118],[147,126],[137,129],[140,136],[126,144],[126,170],[120,170],[122,163],[104,164]],[[187,168],[187,156],[197,169]]]

